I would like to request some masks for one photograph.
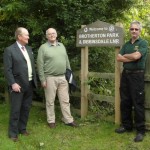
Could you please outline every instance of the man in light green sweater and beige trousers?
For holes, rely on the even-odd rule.
[[[46,31],[47,42],[40,46],[37,67],[41,85],[45,91],[47,122],[50,128],[56,127],[54,102],[58,95],[62,121],[71,127],[77,127],[70,112],[68,82],[65,78],[70,63],[66,48],[57,41],[57,31],[49,28]]]

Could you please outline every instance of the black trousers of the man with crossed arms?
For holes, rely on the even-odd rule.
[[[144,72],[126,73],[123,71],[120,96],[122,125],[126,129],[132,129],[134,123],[137,132],[145,133]]]

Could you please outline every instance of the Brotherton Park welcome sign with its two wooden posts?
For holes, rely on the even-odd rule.
[[[116,55],[124,43],[122,27],[96,21],[77,30],[76,46],[81,47],[81,118],[88,113],[88,47],[113,46]],[[115,123],[120,123],[120,67],[115,61]]]

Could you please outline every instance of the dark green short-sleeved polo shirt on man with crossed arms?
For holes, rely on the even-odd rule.
[[[139,51],[142,55],[142,57],[139,60],[133,61],[133,62],[124,62],[123,67],[127,70],[144,70],[145,69],[145,62],[146,62],[146,56],[147,56],[147,50],[148,50],[148,43],[147,41],[138,38],[133,44],[131,43],[131,40],[126,42],[122,49],[120,50],[120,54],[131,54],[135,51]]]

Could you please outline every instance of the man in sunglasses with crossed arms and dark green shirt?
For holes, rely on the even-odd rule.
[[[138,21],[130,24],[131,39],[124,44],[117,56],[117,61],[123,62],[120,83],[122,127],[115,132],[132,131],[134,122],[137,130],[135,142],[142,141],[145,135],[144,69],[148,44],[139,37],[141,29],[141,23]]]

